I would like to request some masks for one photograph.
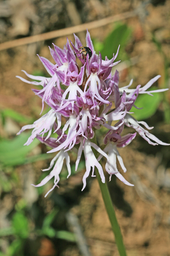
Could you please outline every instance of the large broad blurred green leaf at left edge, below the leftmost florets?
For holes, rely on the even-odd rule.
[[[24,146],[31,133],[23,133],[13,140],[0,141],[0,162],[5,166],[16,166],[26,161],[26,155],[32,151],[38,144],[39,140],[34,140],[30,145]]]

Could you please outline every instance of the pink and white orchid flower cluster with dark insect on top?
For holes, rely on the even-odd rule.
[[[116,55],[113,54],[111,60],[107,57],[105,57],[105,60],[102,60],[100,52],[97,55],[94,50],[88,31],[86,47],[82,46],[76,35],[74,37],[75,44],[71,41],[69,43],[67,39],[63,49],[56,45],[54,45],[54,49],[49,47],[55,64],[39,56],[40,61],[51,76],[50,78],[32,76],[26,73],[26,71],[23,71],[26,76],[36,81],[27,81],[17,76],[28,84],[41,85],[41,90],[32,90],[35,95],[42,99],[42,110],[44,102],[50,107],[48,113],[32,125],[23,126],[17,135],[26,129],[33,128],[31,136],[24,145],[29,145],[34,138],[37,138],[41,143],[45,143],[52,148],[47,153],[58,152],[51,160],[49,168],[42,170],[52,169],[50,174],[40,184],[33,186],[43,186],[53,177],[54,186],[48,193],[58,186],[59,174],[62,170],[64,159],[66,160],[69,177],[71,175],[69,151],[71,150],[77,150],[76,170],[82,151],[85,155],[86,172],[82,179],[82,190],[85,189],[86,178],[90,175],[91,169],[92,177],[95,176],[95,166],[99,171],[102,182],[105,183],[104,172],[99,163],[102,157],[106,158],[105,170],[109,173],[110,179],[112,175],[116,175],[126,185],[133,186],[133,184],[125,180],[117,169],[116,158],[123,171],[126,172],[122,157],[119,155],[117,148],[127,146],[136,137],[136,132],[151,145],[169,144],[163,143],[150,134],[147,130],[153,127],[149,127],[146,122],[138,122],[130,115],[129,111],[132,106],[136,107],[134,103],[140,93],[152,95],[151,93],[162,92],[166,89],[146,91],[160,76],[151,79],[144,87],[138,85],[136,89],[129,89],[132,84],[131,80],[129,85],[119,88],[119,72],[116,70],[114,75],[111,73],[112,67],[119,63],[119,61],[115,62],[119,48]],[[80,69],[76,58],[82,64]],[[62,116],[65,118],[64,126],[62,125]],[[115,125],[112,125],[112,121],[117,122]],[[134,128],[136,132],[122,136],[124,126]],[[108,129],[103,138],[103,144],[105,145],[103,150],[96,143],[92,142],[95,131],[102,127]],[[56,137],[51,137],[52,131],[57,134],[57,139]],[[46,133],[48,134],[45,136],[44,134]],[[92,148],[99,152],[98,158],[96,158]]]

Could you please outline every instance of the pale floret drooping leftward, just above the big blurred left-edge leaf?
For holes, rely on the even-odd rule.
[[[54,122],[55,122],[56,118],[58,120],[57,129],[59,129],[59,127],[61,126],[61,115],[59,113],[55,113],[54,110],[51,109],[48,113],[46,113],[40,119],[35,121],[33,123],[33,125],[24,125],[23,128],[17,133],[17,135],[21,134],[26,129],[34,128],[34,130],[32,131],[31,136],[28,138],[27,142],[24,144],[24,145],[27,145],[27,146],[34,140],[34,138],[37,135],[42,134],[42,137],[43,137],[43,135],[46,132],[48,132],[48,136],[46,137],[46,139],[48,139],[51,135],[52,128],[53,128],[53,125],[54,125]]]

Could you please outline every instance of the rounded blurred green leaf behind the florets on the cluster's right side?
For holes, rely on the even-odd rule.
[[[152,87],[151,90],[156,90],[158,88]],[[136,99],[135,105],[138,108],[134,107],[131,108],[130,112],[134,112],[132,116],[136,118],[138,121],[147,119],[148,117],[152,116],[159,107],[161,103],[162,95],[160,93],[153,93],[153,96],[148,94],[139,94],[138,98]]]

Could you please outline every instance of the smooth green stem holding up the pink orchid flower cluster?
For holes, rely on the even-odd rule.
[[[96,171],[96,176],[97,176],[99,186],[100,186],[100,189],[102,192],[102,197],[103,197],[103,201],[105,203],[106,211],[108,212],[108,216],[111,221],[111,226],[112,226],[113,233],[115,235],[115,241],[116,241],[116,244],[118,247],[119,254],[120,254],[120,256],[127,256],[126,250],[125,250],[125,245],[123,243],[121,230],[120,230],[119,224],[117,222],[115,210],[113,208],[113,204],[111,201],[111,195],[108,190],[108,185],[106,182],[102,183],[102,180],[101,180],[98,170],[95,169],[95,171]]]

